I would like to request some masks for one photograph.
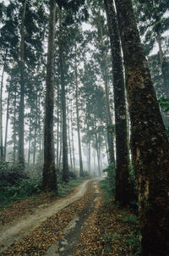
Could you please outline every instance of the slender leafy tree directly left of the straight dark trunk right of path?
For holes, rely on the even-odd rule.
[[[114,137],[111,132],[112,112],[110,107],[110,58],[109,58],[109,41],[106,20],[104,16],[104,6],[101,1],[90,1],[91,20],[90,24],[95,27],[96,33],[88,32],[88,36],[92,38],[92,45],[95,46],[93,58],[99,64],[101,80],[105,86],[106,92],[106,127],[107,127],[107,144],[108,158],[110,163],[115,164],[114,158]]]

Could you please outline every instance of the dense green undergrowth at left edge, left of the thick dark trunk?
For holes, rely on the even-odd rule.
[[[23,170],[20,164],[0,163],[0,208],[41,192],[41,173],[33,173],[30,175],[29,170]]]

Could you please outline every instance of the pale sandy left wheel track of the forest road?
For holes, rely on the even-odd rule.
[[[19,220],[14,220],[8,225],[3,225],[0,228],[0,253],[5,252],[11,244],[19,242],[23,237],[26,237],[31,231],[34,231],[35,228],[39,227],[54,214],[57,214],[67,208],[68,205],[84,197],[89,182],[95,183],[95,181],[85,181],[79,186],[78,191],[74,195],[68,198],[62,198],[49,205],[42,204],[35,209],[33,214],[23,215]]]

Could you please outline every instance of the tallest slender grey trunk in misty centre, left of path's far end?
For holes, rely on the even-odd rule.
[[[76,51],[76,47],[75,47]],[[78,92],[78,68],[75,53],[75,86],[76,86],[76,117],[77,117],[77,131],[78,131],[78,145],[79,145],[79,176],[84,176],[83,162],[82,162],[82,150],[81,150],[81,138],[80,138],[80,127],[79,127],[79,92]]]

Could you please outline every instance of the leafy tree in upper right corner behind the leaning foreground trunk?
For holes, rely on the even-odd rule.
[[[139,24],[139,32],[144,36],[144,51],[148,55],[155,47],[158,46],[158,62],[161,66],[162,83],[161,88],[166,92],[166,97],[169,97],[169,62],[164,51],[164,43],[166,36],[164,33],[169,29],[169,17],[165,14],[169,10],[168,1],[144,1],[139,0],[134,2],[134,9]]]

